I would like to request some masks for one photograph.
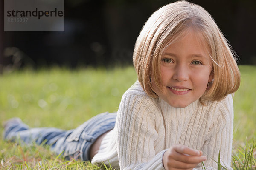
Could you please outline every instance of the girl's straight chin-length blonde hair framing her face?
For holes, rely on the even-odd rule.
[[[201,6],[177,1],[155,11],[148,18],[137,38],[133,62],[140,85],[148,96],[157,98],[151,79],[161,91],[160,59],[167,45],[180,39],[186,31],[200,33],[210,49],[214,81],[200,98],[220,101],[237,91],[240,72],[236,57],[211,15]]]

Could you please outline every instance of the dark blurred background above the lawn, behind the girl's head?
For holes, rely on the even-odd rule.
[[[65,0],[64,32],[4,32],[0,70],[32,66],[132,64],[137,36],[151,14],[173,0]],[[239,56],[256,65],[256,0],[191,0],[205,8]]]

